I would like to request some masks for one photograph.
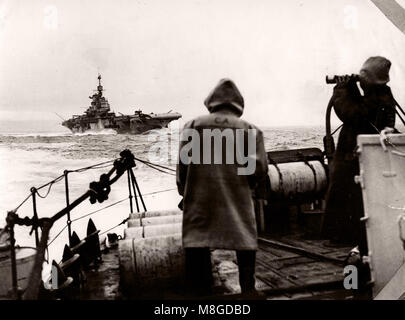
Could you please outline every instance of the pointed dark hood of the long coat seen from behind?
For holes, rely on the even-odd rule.
[[[210,113],[216,111],[218,107],[226,105],[230,106],[239,117],[243,114],[243,97],[230,79],[221,79],[205,99],[204,104]]]

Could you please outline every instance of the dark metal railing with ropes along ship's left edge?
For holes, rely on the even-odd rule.
[[[147,211],[145,202],[143,200],[139,185],[137,183],[135,174],[133,172],[133,168],[136,166],[135,164],[135,157],[131,153],[130,150],[124,150],[120,153],[120,158],[99,163],[93,166],[81,168],[81,169],[76,169],[76,170],[65,170],[63,175],[57,177],[56,179],[38,187],[32,187],[30,190],[30,195],[22,201],[22,203],[17,206],[16,209],[9,211],[7,213],[7,218],[6,218],[6,229],[9,232],[10,235],[10,258],[11,258],[11,278],[12,278],[12,294],[13,298],[15,299],[27,299],[27,300],[32,300],[32,299],[37,299],[38,294],[39,294],[39,288],[41,286],[41,281],[42,281],[42,264],[45,259],[45,250],[48,248],[48,246],[62,233],[62,231],[67,227],[68,229],[68,237],[69,241],[72,238],[72,222],[77,221],[83,217],[77,218],[72,220],[70,213],[71,211],[77,207],[80,203],[83,201],[90,199],[90,203],[94,204],[96,202],[102,203],[105,200],[108,199],[108,194],[110,193],[111,190],[111,185],[114,184],[116,181],[118,181],[122,175],[127,173],[127,178],[128,178],[128,190],[129,190],[129,204],[130,204],[130,212],[133,213],[133,198],[135,198],[136,202],[136,209],[138,212],[140,212],[140,205],[138,203],[138,198],[140,199],[140,202],[142,204],[143,210]],[[144,162],[147,164],[147,161],[141,160],[140,161]],[[97,182],[91,182],[89,185],[89,189],[82,194],[80,197],[75,199],[73,202],[70,202],[69,198],[69,180],[68,176],[69,173],[72,172],[83,172],[89,169],[100,169],[100,168],[105,168],[113,165],[113,167],[105,174],[102,174],[100,176],[99,181]],[[150,164],[150,166],[159,166],[159,165],[154,165]],[[157,168],[156,168],[157,169]],[[168,170],[171,170],[170,168],[165,168]],[[168,173],[168,172],[166,172]],[[57,212],[55,215],[49,218],[38,218],[38,211],[37,211],[37,196],[41,198],[46,198],[48,194],[50,193],[50,190],[53,186],[53,184],[63,180],[65,181],[65,197],[66,197],[66,207]],[[45,195],[41,195],[38,191],[48,187],[48,190]],[[33,215],[31,218],[25,217],[21,218],[17,214],[17,210],[29,199],[32,199],[32,205],[33,205]],[[106,209],[110,206],[116,205],[120,202],[123,202],[126,199],[120,200],[112,205],[106,206],[105,208],[102,208],[100,210]],[[90,214],[93,214],[95,212],[98,212],[100,210],[96,210]],[[88,214],[89,215],[89,214]],[[56,221],[61,219],[62,217],[67,216],[66,220],[66,226],[57,234],[57,236],[50,242],[48,243],[49,239],[49,232],[52,226]],[[87,215],[86,215],[87,216]],[[118,224],[117,226],[125,223],[127,219],[125,219],[123,222]],[[15,225],[20,225],[20,226],[30,226],[31,231],[30,235],[34,232],[35,233],[35,243],[37,246],[37,253],[35,256],[35,261],[34,261],[34,266],[32,268],[29,281],[28,281],[28,286],[27,289],[24,292],[24,295],[21,295],[21,292],[18,288],[18,276],[17,276],[17,259],[16,259],[16,246],[15,246],[15,232],[14,232],[14,227]],[[114,226],[113,228],[117,227]],[[41,237],[39,237],[39,230],[41,229]],[[107,231],[113,229],[110,228]],[[106,231],[106,232],[107,232]]]

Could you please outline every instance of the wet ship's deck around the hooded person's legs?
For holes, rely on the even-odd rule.
[[[305,234],[261,235],[256,259],[256,288],[266,299],[351,299],[343,288],[343,261],[350,248],[328,247],[327,240],[311,240]],[[215,297],[240,293],[236,255],[212,252]],[[97,270],[86,272],[83,300],[126,300],[120,291],[118,249],[103,253]],[[214,297],[214,298],[215,298]],[[136,297],[132,297],[132,299]]]

